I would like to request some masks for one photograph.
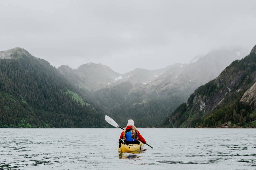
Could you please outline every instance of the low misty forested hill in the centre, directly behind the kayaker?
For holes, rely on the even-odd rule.
[[[163,120],[182,103],[177,97],[155,98],[132,88],[132,83],[123,82],[95,92],[96,99],[120,126],[126,126],[127,121],[133,119],[138,128],[160,127]]]

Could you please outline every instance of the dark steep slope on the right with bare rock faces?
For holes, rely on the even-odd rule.
[[[256,45],[197,88],[168,118],[171,128],[256,127]]]

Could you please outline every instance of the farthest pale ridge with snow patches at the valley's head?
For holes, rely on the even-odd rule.
[[[58,70],[66,79],[79,87],[90,91],[97,91],[105,87],[113,87],[122,82],[138,83],[140,86],[143,86],[155,80],[170,67],[172,66],[157,70],[136,68],[128,73],[120,74],[106,65],[87,63],[77,69],[62,65]]]

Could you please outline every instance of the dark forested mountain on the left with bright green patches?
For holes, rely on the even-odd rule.
[[[1,128],[97,128],[103,111],[47,61],[22,48],[0,52]]]

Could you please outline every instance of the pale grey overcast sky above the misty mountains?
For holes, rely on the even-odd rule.
[[[56,68],[154,70],[219,47],[250,50],[255,30],[256,0],[0,1],[0,51],[25,48]]]

